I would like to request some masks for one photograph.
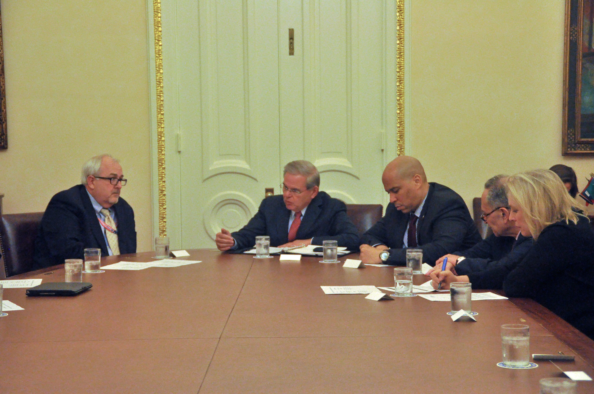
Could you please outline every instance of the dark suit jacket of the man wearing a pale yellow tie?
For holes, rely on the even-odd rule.
[[[123,199],[112,205],[118,221],[119,252],[136,252],[134,211]],[[45,209],[39,234],[35,240],[33,260],[36,269],[64,264],[65,259],[83,259],[84,249],[101,249],[108,255],[108,248],[99,220],[84,185],[73,186],[59,192]]]

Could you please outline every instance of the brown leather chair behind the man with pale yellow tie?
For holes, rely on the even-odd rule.
[[[33,269],[33,247],[43,212],[0,216],[0,251],[5,277]]]

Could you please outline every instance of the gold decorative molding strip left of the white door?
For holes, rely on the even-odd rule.
[[[163,46],[161,42],[161,1],[153,1],[154,63],[157,92],[157,177],[159,179],[159,237],[167,236],[165,201],[165,111],[163,110]]]

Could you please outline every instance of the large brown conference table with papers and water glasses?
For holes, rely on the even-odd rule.
[[[530,300],[473,301],[478,321],[452,322],[447,302],[320,288],[393,286],[391,268],[189,252],[202,262],[83,274],[93,288],[76,297],[6,289],[25,310],[0,318],[0,392],[533,394],[560,368],[594,376],[594,342]],[[63,266],[45,271],[15,278],[64,280]],[[576,361],[497,367],[500,325],[524,321],[531,353],[578,352]]]

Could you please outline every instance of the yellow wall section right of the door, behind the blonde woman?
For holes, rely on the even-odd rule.
[[[467,204],[497,173],[561,156],[564,0],[412,0],[410,154]],[[581,200],[581,198],[578,198]]]

